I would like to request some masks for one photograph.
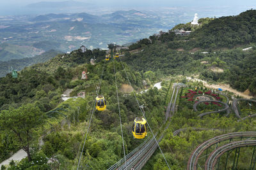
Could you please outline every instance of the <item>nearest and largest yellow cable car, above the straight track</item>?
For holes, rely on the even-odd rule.
[[[147,136],[147,121],[145,118],[136,117],[132,125],[132,134],[136,139],[143,139]]]

